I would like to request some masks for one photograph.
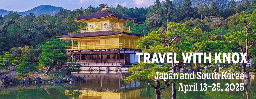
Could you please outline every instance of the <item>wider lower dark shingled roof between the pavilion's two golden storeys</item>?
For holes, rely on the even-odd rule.
[[[96,37],[96,36],[108,36],[108,35],[115,35],[115,34],[127,34],[127,35],[134,35],[134,36],[144,36],[142,34],[134,34],[134,33],[127,33],[127,32],[119,32],[119,31],[97,31],[97,32],[85,32],[85,33],[77,33],[77,34],[70,34],[70,35],[62,35],[56,36],[59,38],[80,38],[80,37]]]

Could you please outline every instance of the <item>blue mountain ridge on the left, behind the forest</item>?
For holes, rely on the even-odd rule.
[[[55,6],[51,6],[51,5],[40,5],[40,6],[37,6],[37,7],[33,8],[33,9],[30,9],[28,11],[18,12],[18,13],[20,15],[28,15],[29,13],[34,13],[34,15],[41,15],[41,14],[46,14],[46,13],[54,15],[60,9],[66,10],[62,7],[55,7]],[[12,12],[12,11],[7,11],[7,10],[4,10],[4,9],[0,9],[0,15],[6,15],[6,14],[9,14],[10,12]]]

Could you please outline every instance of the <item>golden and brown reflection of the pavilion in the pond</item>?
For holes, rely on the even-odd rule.
[[[106,71],[102,71],[106,72]],[[78,73],[76,76],[84,76],[84,82],[77,83],[73,88],[81,90],[73,90],[73,92],[81,92],[79,98],[97,98],[97,99],[125,99],[125,98],[141,98],[140,92],[147,91],[147,88],[140,87],[140,82],[125,84],[122,78],[128,77],[131,73],[116,73],[111,71],[109,74],[95,74],[95,73]],[[70,94],[66,90],[66,95]]]

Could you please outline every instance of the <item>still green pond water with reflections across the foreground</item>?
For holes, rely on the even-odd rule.
[[[125,84],[122,78],[129,76],[129,72],[85,72],[77,76],[85,76],[86,80],[76,84],[59,83],[54,85],[30,84],[30,85],[1,85],[0,99],[150,99],[155,98],[155,90],[149,87],[147,82]],[[225,89],[226,83],[242,83],[242,80],[196,80],[198,90],[200,83],[221,83]],[[177,99],[256,99],[256,80],[247,80],[244,91],[178,91],[176,84]],[[172,86],[161,91],[163,99],[171,97]]]

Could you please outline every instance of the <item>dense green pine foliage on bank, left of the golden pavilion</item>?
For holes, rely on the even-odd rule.
[[[58,38],[47,39],[46,43],[41,46],[42,53],[39,57],[39,64],[55,67],[60,63],[65,63],[68,59],[65,56],[67,43]]]

